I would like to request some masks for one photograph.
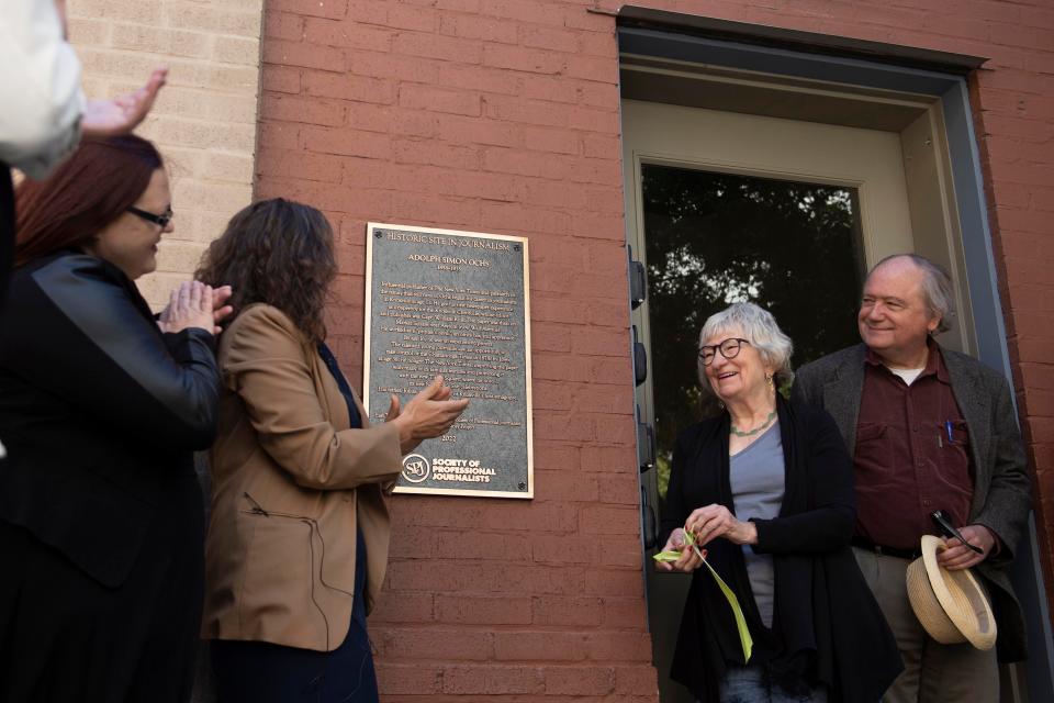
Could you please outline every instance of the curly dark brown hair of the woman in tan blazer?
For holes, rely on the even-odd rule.
[[[333,230],[325,215],[274,198],[231,217],[202,256],[194,278],[214,287],[229,284],[235,316],[246,305],[267,303],[318,343],[326,337],[323,309],[336,274]]]

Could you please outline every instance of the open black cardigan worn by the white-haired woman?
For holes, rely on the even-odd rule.
[[[777,410],[785,493],[777,517],[754,521],[753,547],[773,556],[771,631],[758,613],[742,547],[715,539],[706,545],[707,560],[743,607],[755,641],[751,663],[766,665],[776,680],[788,684],[827,684],[832,703],[877,701],[902,663],[849,546],[856,514],[849,454],[825,411],[782,398]],[[662,543],[697,507],[719,503],[735,513],[729,424],[728,413],[722,413],[677,438]],[[731,609],[709,571],[699,569],[692,577],[671,677],[699,700],[717,701],[726,667],[742,659]]]

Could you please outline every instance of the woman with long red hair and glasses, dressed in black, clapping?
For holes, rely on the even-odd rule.
[[[0,701],[187,701],[202,589],[192,451],[212,442],[218,294],[134,280],[172,231],[160,155],[86,141],[16,193],[0,328]]]

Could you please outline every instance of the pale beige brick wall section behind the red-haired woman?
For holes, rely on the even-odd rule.
[[[169,82],[137,131],[168,163],[176,232],[139,280],[155,305],[193,271],[208,243],[253,193],[264,0],[68,0],[69,36],[90,98]]]

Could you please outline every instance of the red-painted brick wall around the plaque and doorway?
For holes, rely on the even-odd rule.
[[[333,336],[352,377],[361,369],[367,220],[530,237],[538,498],[391,501],[391,570],[372,621],[386,701],[655,700],[638,537],[615,21],[588,13],[594,4],[267,5],[257,192],[315,204],[339,228]],[[973,79],[977,134],[1050,573],[1049,1],[647,4],[993,58]]]

